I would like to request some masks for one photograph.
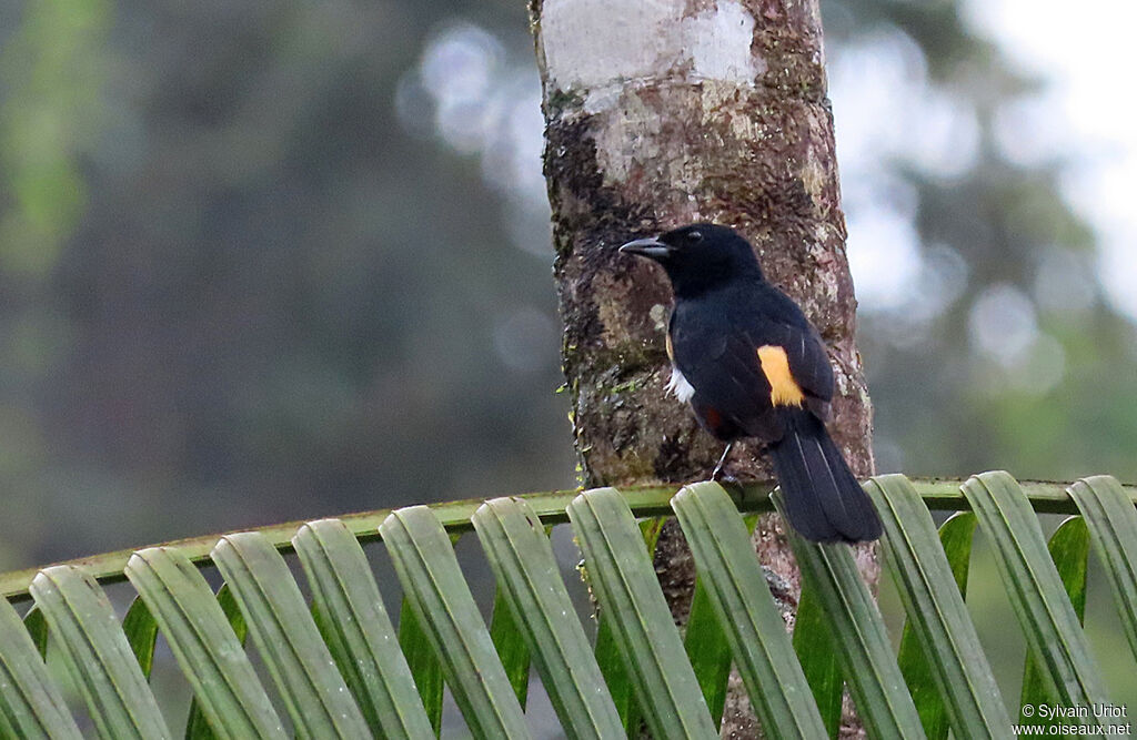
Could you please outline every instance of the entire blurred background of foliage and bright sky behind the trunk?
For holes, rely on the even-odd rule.
[[[881,471],[1137,480],[1135,16],[823,2]],[[540,149],[521,0],[0,2],[0,571],[573,485]]]

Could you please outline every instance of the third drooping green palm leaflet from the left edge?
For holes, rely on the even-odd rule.
[[[126,577],[150,608],[219,738],[283,738],[268,695],[209,584],[175,548],[139,550]]]

